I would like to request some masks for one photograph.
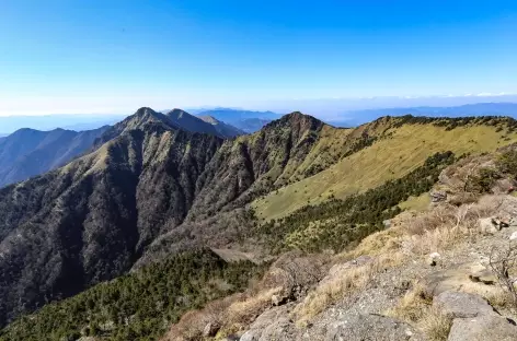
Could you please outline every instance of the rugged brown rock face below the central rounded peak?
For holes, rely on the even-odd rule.
[[[303,162],[323,126],[294,113],[253,136],[225,143],[199,179],[194,209],[210,215],[272,190],[277,178]]]

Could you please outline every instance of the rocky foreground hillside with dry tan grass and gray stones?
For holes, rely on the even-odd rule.
[[[514,144],[461,158],[433,180],[426,195],[446,196],[425,210],[336,255],[284,254],[260,284],[161,340],[515,340],[516,156]]]

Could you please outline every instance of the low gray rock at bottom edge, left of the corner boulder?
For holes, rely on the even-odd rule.
[[[417,341],[424,337],[410,325],[380,315],[345,316],[329,327],[326,341]]]

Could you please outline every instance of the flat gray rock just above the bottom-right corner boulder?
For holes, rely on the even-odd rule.
[[[433,298],[433,307],[451,318],[495,315],[492,306],[479,295],[447,291]]]

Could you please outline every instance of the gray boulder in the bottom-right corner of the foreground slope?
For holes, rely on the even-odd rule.
[[[452,321],[448,341],[515,341],[517,327],[504,317],[483,315]]]

